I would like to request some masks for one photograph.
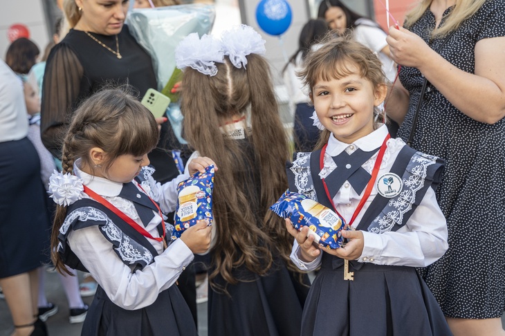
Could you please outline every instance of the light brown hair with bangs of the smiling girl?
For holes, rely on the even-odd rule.
[[[354,67],[358,68],[361,77],[371,82],[374,89],[386,85],[380,59],[370,48],[355,41],[349,32],[341,37],[328,34],[321,48],[307,55],[304,68],[297,75],[310,88],[309,94],[312,97],[313,87],[319,80],[345,77],[353,73]],[[315,149],[321,149],[328,142],[329,136],[330,131],[324,129]]]

